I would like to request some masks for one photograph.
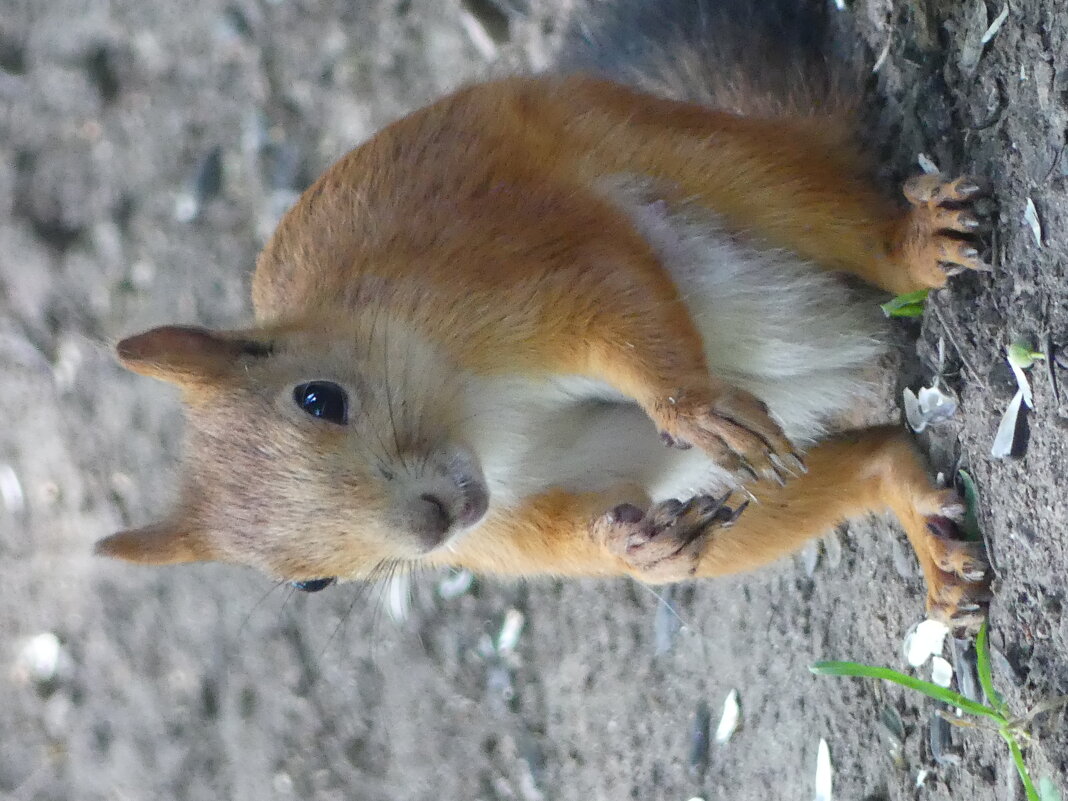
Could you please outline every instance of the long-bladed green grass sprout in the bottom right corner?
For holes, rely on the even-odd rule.
[[[909,676],[905,673],[899,673],[898,671],[890,668],[875,668],[867,664],[860,664],[858,662],[816,662],[808,670],[817,676],[853,676],[860,678],[885,679],[886,681],[893,681],[894,684],[907,687],[910,690],[922,692],[924,695],[934,698],[936,701],[941,701],[951,707],[956,707],[962,712],[975,716],[978,720],[973,723],[943,714],[945,720],[955,725],[993,729],[1001,735],[1002,739],[1004,739],[1008,744],[1009,753],[1012,755],[1012,761],[1016,764],[1016,769],[1020,773],[1020,779],[1023,782],[1023,788],[1027,794],[1027,801],[1049,801],[1050,799],[1058,799],[1059,794],[1053,783],[1049,780],[1040,782],[1042,788],[1041,794],[1035,788],[1035,783],[1031,780],[1031,774],[1027,772],[1027,766],[1023,761],[1023,747],[1026,745],[1031,739],[1027,734],[1027,726],[1031,721],[1042,712],[1068,706],[1068,695],[1062,695],[1049,701],[1043,701],[1026,714],[1020,717],[1012,716],[1008,706],[1005,704],[1004,698],[998,690],[994,689],[993,676],[990,672],[990,649],[987,644],[987,624],[985,622],[979,628],[978,637],[975,640],[975,653],[977,662],[976,666],[978,668],[979,674],[979,685],[983,687],[987,704],[980,704],[972,701],[971,698],[964,697],[959,692],[954,692],[953,690],[944,687],[939,687],[930,681],[923,681],[922,679]],[[983,725],[984,722],[986,725]]]

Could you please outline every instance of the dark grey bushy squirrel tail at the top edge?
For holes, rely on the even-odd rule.
[[[820,0],[587,0],[559,68],[747,116],[837,115],[860,97],[837,15]]]

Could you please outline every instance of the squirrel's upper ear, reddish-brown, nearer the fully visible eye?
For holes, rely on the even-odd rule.
[[[127,370],[178,386],[210,382],[231,373],[242,356],[268,356],[271,346],[241,333],[194,326],[163,326],[115,347]]]

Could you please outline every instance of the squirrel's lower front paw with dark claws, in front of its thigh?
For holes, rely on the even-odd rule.
[[[670,500],[643,512],[624,503],[595,522],[596,536],[623,560],[635,578],[650,584],[693,578],[712,532],[738,519],[748,501],[734,508],[722,498]]]

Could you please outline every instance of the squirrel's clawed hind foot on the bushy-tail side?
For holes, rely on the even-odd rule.
[[[894,250],[917,283],[938,288],[955,272],[990,269],[979,257],[975,238],[984,227],[974,205],[984,194],[980,182],[918,175],[907,180],[902,191],[912,208]]]

